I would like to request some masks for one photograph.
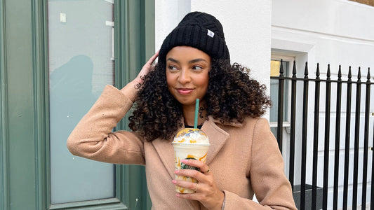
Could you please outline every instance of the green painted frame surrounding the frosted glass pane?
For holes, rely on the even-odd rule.
[[[150,209],[145,169],[133,165],[115,166],[113,198],[51,205],[47,3],[0,0],[0,209]],[[154,53],[154,1],[114,0],[114,33],[121,88]]]

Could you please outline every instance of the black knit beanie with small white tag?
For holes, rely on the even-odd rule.
[[[179,25],[166,36],[161,45],[159,60],[164,61],[166,54],[175,46],[197,48],[212,58],[226,59],[229,62],[229,50],[222,25],[207,13],[188,13]]]

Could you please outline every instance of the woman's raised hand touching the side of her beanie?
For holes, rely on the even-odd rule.
[[[143,83],[143,78],[146,76],[149,71],[154,70],[154,66],[152,65],[156,57],[159,56],[159,51],[157,51],[154,55],[152,55],[151,58],[147,61],[147,63],[144,64],[140,72],[138,73],[138,76],[134,80],[132,80],[130,83],[128,83],[125,87],[121,89],[121,92],[128,97],[128,99],[131,100],[131,102],[134,102],[136,93],[138,92],[137,86],[140,83]]]

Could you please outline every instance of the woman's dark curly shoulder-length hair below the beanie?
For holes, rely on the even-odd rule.
[[[212,59],[208,90],[204,97],[207,116],[220,123],[243,123],[246,116],[259,117],[271,106],[265,85],[249,77],[249,69],[224,59]],[[138,84],[137,97],[128,126],[145,141],[170,140],[182,125],[182,104],[168,90],[166,62],[155,66]]]

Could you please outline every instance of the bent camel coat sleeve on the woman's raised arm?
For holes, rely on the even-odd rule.
[[[142,137],[136,132],[112,132],[132,105],[116,87],[107,85],[67,139],[69,151],[100,162],[145,165]]]

